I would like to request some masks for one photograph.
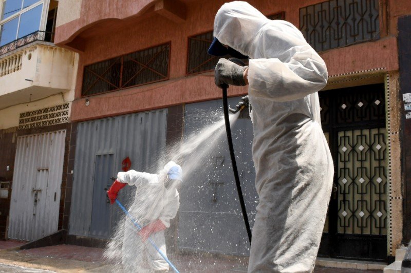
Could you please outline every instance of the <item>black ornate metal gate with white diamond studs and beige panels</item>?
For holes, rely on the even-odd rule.
[[[320,256],[385,261],[387,157],[384,85],[320,92],[335,175]]]

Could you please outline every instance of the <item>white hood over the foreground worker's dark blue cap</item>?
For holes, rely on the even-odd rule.
[[[252,42],[257,32],[271,20],[247,2],[226,3],[214,19],[214,37],[243,55],[253,52]]]

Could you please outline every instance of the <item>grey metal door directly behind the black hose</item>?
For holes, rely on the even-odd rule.
[[[229,99],[234,106],[240,98]],[[199,132],[200,128],[222,117],[222,101],[214,100],[185,106],[184,135]],[[234,149],[240,181],[244,193],[250,225],[255,218],[257,193],[255,191],[254,164],[251,156],[252,124],[249,118],[238,119],[232,125]],[[203,143],[184,158],[185,162],[201,160],[195,171],[186,177],[180,193],[178,247],[212,253],[247,255],[249,244],[241,215],[234,182],[225,127],[216,145]],[[201,135],[199,135],[201,137]],[[204,152],[204,150],[209,151]],[[193,156],[196,159],[191,158]],[[184,165],[183,165],[184,171]]]

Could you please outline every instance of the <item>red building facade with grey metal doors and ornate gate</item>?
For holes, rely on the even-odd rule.
[[[335,177],[319,255],[389,262],[411,239],[406,149],[411,4],[248,2],[270,19],[294,24],[327,64],[328,84],[319,95]],[[59,1],[54,41],[79,53],[70,113],[76,128],[74,167],[66,191],[70,242],[96,245],[109,238],[119,211],[107,204],[104,188],[123,160],[128,157],[137,170],[152,168],[176,140],[212,120],[205,118],[207,113],[221,108],[221,91],[213,81],[218,58],[206,51],[223,3]],[[246,88],[229,89],[231,97],[244,94]],[[240,172],[252,219],[257,200],[249,162],[251,121],[245,117],[236,126],[243,130],[236,141],[242,143],[237,146],[244,156]],[[247,255],[229,158],[221,149],[207,156],[214,169],[225,173],[192,177],[183,185],[180,212],[169,230],[171,244],[181,251]],[[207,232],[204,223],[234,232]]]

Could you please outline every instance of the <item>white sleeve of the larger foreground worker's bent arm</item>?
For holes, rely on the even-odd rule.
[[[249,93],[274,101],[303,98],[327,84],[324,60],[295,27],[276,22],[258,38],[256,47],[265,58],[250,59]]]

